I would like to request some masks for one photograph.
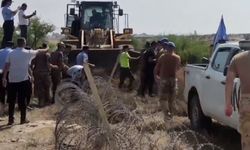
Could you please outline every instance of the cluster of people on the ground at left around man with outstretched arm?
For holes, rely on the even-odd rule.
[[[14,123],[16,101],[21,111],[20,123],[28,122],[26,109],[30,105],[33,87],[34,97],[38,98],[39,107],[55,102],[56,88],[62,80],[63,72],[68,69],[63,62],[65,46],[63,43],[58,43],[57,47],[57,50],[52,53],[48,52],[46,44],[43,44],[41,49],[27,49],[26,40],[21,37],[17,40],[16,48],[13,42],[8,41],[6,47],[0,50],[0,75],[2,77],[0,111],[6,107],[7,100],[9,125]]]

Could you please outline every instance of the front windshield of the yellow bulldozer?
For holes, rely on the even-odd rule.
[[[85,7],[82,13],[82,23],[85,30],[94,28],[112,29],[112,11],[108,7]]]

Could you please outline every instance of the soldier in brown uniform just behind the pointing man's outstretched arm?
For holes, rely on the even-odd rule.
[[[46,47],[47,44],[43,44],[42,48]],[[37,54],[31,61],[31,69],[34,76],[34,90],[38,97],[39,107],[43,107],[51,102],[51,67],[56,68],[57,66],[50,64],[50,55],[48,53]]]

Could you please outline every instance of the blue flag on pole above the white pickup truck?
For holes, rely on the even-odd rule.
[[[214,42],[213,42],[214,48],[216,47],[218,43],[225,43],[226,41],[228,41],[228,35],[227,35],[227,30],[226,30],[226,26],[224,23],[224,19],[222,16],[217,33],[215,34],[215,37],[214,37]]]

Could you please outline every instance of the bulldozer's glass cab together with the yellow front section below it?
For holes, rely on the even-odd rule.
[[[77,46],[113,48],[113,2],[82,1],[67,5],[63,34],[78,39]]]

